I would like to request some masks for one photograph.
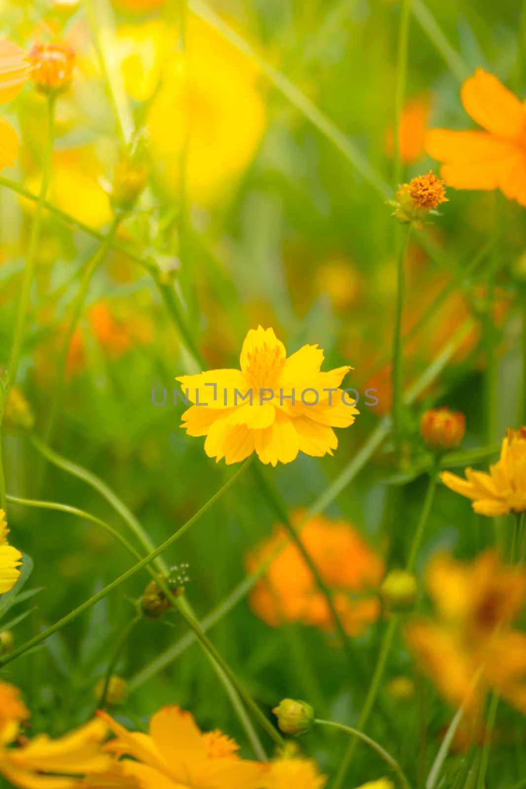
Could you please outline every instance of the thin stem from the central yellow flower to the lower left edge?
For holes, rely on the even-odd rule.
[[[118,589],[118,587],[123,584],[125,581],[128,581],[129,578],[132,578],[139,570],[142,570],[143,567],[147,567],[148,564],[151,564],[157,556],[161,555],[163,552],[166,551],[167,548],[170,548],[173,543],[179,540],[183,534],[185,534],[188,529],[192,527],[203,515],[209,510],[215,503],[224,495],[229,488],[233,486],[233,484],[237,481],[237,479],[241,476],[244,472],[244,469],[247,467],[247,462],[244,462],[244,465],[241,466],[240,469],[237,470],[235,474],[215,493],[211,499],[208,499],[206,504],[203,504],[203,507],[200,508],[196,512],[196,514],[192,515],[192,518],[189,518],[188,521],[182,525],[175,533],[173,533],[167,540],[165,540],[159,548],[155,548],[155,551],[152,551],[144,559],[140,559],[133,567],[130,567],[129,570],[126,570],[125,573],[120,575],[118,578],[115,578],[114,581],[111,581],[110,584],[101,589],[101,591],[89,598],[89,600],[85,600],[77,608],[74,608],[73,611],[70,611],[69,614],[59,619],[58,622],[55,622],[53,625],[47,628],[47,630],[43,630],[42,633],[39,633],[34,638],[30,638],[29,641],[26,641],[25,644],[17,647],[17,649],[13,649],[13,652],[10,652],[8,655],[0,656],[0,666],[5,666],[6,664],[10,663],[12,660],[15,660],[17,657],[20,657],[24,653],[28,652],[28,649],[32,649],[32,647],[41,644],[43,641],[46,641],[50,635],[56,633],[58,630],[61,630],[62,627],[69,624],[76,619],[77,616],[82,614],[84,611],[87,611],[88,608],[98,603],[99,600],[103,600],[106,595],[112,592],[114,589]]]

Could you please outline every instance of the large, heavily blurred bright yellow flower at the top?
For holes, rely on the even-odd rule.
[[[166,24],[121,28],[125,84],[151,99],[150,151],[159,178],[172,194],[185,183],[191,200],[214,202],[248,166],[263,136],[266,111],[258,71],[198,17],[188,21],[185,51],[173,49]]]

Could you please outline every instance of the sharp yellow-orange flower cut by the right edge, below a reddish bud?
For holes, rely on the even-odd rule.
[[[465,480],[449,471],[440,478],[455,493],[472,499],[477,513],[492,517],[526,511],[526,428],[508,430],[501,456],[489,474],[471,468],[464,473]]]

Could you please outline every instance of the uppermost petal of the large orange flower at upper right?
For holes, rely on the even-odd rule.
[[[462,85],[461,99],[466,112],[488,132],[508,140],[524,136],[524,105],[494,74],[476,69]]]

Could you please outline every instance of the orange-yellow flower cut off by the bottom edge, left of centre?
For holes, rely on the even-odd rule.
[[[149,733],[130,732],[106,712],[99,712],[117,735],[106,750],[135,761],[119,761],[108,783],[88,786],[141,789],[262,789],[265,765],[237,756],[237,743],[220,731],[203,734],[190,712],[164,707],[151,717]],[[113,783],[111,783],[113,781]]]

